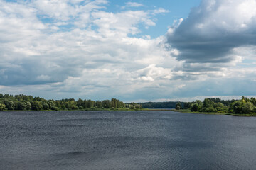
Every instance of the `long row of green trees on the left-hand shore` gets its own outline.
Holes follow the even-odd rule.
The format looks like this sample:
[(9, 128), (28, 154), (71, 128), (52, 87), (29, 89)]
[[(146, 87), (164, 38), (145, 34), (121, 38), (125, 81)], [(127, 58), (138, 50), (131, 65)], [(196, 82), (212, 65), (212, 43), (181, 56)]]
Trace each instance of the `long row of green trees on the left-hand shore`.
[(137, 103), (124, 103), (116, 98), (111, 100), (92, 101), (82, 100), (79, 98), (66, 98), (61, 100), (46, 100), (41, 97), (33, 97), (29, 95), (10, 95), (0, 94), (0, 111), (43, 111), (43, 110), (97, 110), (97, 109), (140, 109)]

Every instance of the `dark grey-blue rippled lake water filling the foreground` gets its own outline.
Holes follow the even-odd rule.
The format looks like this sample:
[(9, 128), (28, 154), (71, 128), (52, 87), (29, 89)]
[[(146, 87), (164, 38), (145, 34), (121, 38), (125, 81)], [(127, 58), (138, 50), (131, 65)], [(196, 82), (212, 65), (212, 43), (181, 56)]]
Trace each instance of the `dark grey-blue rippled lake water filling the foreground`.
[(0, 169), (256, 169), (256, 118), (0, 112)]

